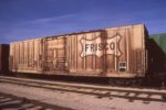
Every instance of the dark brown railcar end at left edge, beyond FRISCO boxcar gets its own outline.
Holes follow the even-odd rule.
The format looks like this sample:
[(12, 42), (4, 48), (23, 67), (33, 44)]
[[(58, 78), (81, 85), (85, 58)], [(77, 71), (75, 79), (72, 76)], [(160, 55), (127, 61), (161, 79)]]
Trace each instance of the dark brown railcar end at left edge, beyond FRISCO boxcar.
[(0, 74), (9, 72), (9, 44), (0, 44)]

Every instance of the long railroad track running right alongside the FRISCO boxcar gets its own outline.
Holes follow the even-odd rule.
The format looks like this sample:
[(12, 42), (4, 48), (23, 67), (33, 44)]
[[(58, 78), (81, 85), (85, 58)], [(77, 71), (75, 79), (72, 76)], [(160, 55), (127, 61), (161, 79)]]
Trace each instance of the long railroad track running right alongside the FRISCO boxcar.
[(125, 98), (128, 100), (143, 101), (162, 101), (166, 102), (166, 90), (144, 89), (144, 88), (124, 88), (108, 87), (85, 84), (69, 84), (62, 81), (46, 81), (29, 78), (14, 78), (0, 76), (0, 82), (13, 84), (19, 86), (28, 86), (43, 88), (49, 90), (58, 90), (62, 92), (75, 92), (83, 95), (92, 95), (97, 98)]

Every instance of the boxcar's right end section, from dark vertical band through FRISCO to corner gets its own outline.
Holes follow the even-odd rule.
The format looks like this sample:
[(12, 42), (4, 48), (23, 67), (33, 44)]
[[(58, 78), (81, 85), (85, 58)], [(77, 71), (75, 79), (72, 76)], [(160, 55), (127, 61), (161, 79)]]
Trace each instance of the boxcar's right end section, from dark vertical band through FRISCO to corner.
[[(112, 59), (106, 59), (107, 76), (143, 77), (145, 75), (144, 25), (108, 29), (107, 36), (115, 36)], [(113, 38), (113, 37), (112, 37)], [(108, 38), (107, 38), (108, 40)], [(112, 46), (114, 48), (114, 46)], [(106, 57), (110, 57), (108, 54)], [(114, 62), (111, 62), (114, 61)], [(108, 66), (110, 65), (110, 66)]]

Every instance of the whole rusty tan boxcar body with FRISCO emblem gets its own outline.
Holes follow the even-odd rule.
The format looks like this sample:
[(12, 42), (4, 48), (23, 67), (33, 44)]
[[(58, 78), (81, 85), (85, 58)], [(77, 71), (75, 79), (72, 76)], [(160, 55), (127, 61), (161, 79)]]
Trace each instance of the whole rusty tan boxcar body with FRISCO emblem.
[(10, 44), (10, 69), (21, 73), (134, 78), (147, 68), (144, 24)]

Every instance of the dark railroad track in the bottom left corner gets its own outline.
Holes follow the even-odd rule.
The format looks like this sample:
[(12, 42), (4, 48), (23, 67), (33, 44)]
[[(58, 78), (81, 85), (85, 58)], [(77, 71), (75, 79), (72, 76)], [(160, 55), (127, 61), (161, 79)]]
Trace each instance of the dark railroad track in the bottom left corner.
[(1, 110), (72, 110), (70, 108), (59, 107), (40, 102), (38, 100), (17, 97), (9, 94), (0, 92), (0, 108)]

